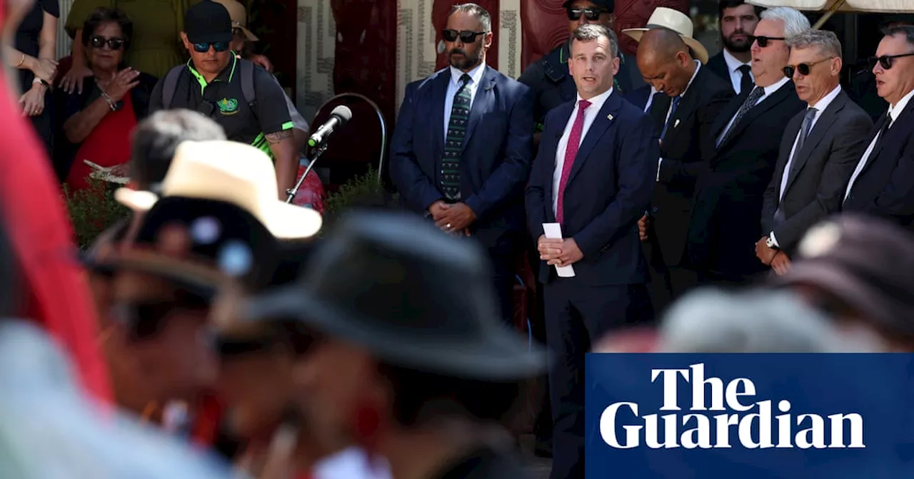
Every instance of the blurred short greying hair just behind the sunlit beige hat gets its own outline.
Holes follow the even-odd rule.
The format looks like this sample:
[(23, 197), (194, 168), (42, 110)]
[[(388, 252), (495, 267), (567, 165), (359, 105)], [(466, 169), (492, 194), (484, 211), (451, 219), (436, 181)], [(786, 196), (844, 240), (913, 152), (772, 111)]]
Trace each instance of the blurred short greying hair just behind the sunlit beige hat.
[(133, 132), (130, 177), (146, 190), (162, 182), (183, 141), (226, 140), (219, 124), (189, 109), (166, 109), (143, 120)]

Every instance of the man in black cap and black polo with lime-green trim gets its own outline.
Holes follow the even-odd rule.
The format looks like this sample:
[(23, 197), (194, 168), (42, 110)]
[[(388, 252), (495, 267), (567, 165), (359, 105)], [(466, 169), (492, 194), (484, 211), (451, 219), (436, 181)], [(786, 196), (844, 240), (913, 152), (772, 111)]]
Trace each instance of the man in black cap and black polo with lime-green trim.
[(228, 49), (231, 17), (204, 0), (187, 9), (181, 39), (190, 61), (173, 68), (153, 89), (149, 109), (193, 109), (216, 120), (228, 140), (250, 143), (274, 161), (280, 199), (295, 183), (299, 151), (285, 92), (276, 78)]

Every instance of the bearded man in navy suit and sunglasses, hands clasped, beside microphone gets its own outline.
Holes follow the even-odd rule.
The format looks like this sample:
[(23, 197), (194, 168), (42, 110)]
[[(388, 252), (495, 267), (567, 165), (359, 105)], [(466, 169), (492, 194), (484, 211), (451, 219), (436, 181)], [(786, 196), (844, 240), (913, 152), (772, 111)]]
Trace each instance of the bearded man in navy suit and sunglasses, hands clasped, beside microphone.
[(451, 67), (410, 83), (390, 145), (400, 202), (441, 230), (475, 238), (489, 252), (505, 321), (513, 316), (515, 253), (526, 231), (530, 89), (485, 66), (492, 19), (455, 5), (444, 30)]

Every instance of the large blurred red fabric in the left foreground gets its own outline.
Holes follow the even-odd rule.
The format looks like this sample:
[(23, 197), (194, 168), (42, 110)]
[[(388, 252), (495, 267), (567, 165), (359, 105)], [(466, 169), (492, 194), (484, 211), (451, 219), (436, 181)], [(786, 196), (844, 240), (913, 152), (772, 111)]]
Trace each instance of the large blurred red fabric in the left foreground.
[(101, 401), (112, 392), (97, 346), (94, 305), (75, 261), (73, 230), (44, 148), (0, 76), (0, 207), (24, 276), (28, 318), (69, 351), (82, 386)]

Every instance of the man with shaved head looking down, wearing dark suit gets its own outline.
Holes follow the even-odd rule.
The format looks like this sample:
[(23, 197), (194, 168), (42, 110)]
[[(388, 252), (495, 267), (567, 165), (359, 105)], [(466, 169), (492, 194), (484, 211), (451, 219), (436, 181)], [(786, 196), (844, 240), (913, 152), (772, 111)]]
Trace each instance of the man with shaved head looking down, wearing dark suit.
[(698, 172), (714, 154), (711, 124), (733, 92), (668, 28), (644, 32), (637, 59), (644, 81), (671, 99), (650, 109), (660, 133), (660, 164), (651, 211), (639, 224), (643, 241), (651, 245), (654, 273), (663, 278), (652, 285), (654, 307), (660, 309), (696, 284), (696, 274), (681, 266), (692, 193)]

